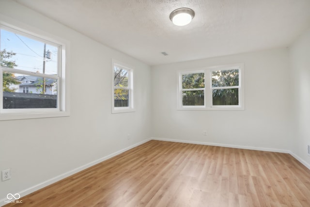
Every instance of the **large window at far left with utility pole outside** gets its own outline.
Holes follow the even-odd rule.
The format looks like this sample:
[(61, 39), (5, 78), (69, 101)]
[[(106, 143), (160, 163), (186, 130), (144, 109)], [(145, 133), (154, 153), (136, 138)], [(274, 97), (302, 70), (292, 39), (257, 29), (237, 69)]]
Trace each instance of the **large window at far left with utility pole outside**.
[(68, 115), (64, 44), (0, 25), (0, 52), (0, 120)]

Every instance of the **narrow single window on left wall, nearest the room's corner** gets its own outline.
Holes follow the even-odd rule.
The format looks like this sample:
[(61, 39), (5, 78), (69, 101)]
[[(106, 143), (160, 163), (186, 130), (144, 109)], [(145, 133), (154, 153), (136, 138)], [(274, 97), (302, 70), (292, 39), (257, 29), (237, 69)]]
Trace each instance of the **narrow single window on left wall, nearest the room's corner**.
[(133, 69), (112, 61), (112, 113), (134, 111)]

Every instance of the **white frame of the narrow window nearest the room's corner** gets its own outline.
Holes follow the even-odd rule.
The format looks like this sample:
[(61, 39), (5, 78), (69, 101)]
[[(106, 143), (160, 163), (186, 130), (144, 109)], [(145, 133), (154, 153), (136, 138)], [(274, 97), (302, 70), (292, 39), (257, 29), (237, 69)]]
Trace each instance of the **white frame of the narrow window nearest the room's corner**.
[[(114, 86), (114, 66), (117, 66), (117, 67), (121, 67), (125, 70), (128, 71), (128, 87), (116, 87)], [(112, 76), (111, 76), (111, 94), (112, 94), (112, 101), (111, 101), (111, 112), (112, 113), (124, 113), (124, 112), (134, 112), (136, 111), (135, 108), (134, 108), (134, 69), (127, 65), (127, 64), (124, 64), (122, 62), (119, 62), (119, 61), (116, 61), (116, 60), (113, 60), (112, 59)], [(127, 89), (129, 91), (129, 95), (128, 95), (128, 98), (129, 98), (129, 101), (128, 101), (128, 107), (115, 107), (114, 106), (114, 89)]]

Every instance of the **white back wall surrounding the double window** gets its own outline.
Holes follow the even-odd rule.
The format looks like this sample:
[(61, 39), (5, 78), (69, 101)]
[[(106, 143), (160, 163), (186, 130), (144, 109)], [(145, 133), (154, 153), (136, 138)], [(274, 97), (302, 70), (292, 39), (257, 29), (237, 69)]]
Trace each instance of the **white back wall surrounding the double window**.
[[(244, 111), (177, 111), (177, 71), (245, 64)], [(152, 67), (152, 135), (276, 151), (290, 148), (288, 49), (275, 49)], [(207, 136), (203, 136), (207, 131)]]

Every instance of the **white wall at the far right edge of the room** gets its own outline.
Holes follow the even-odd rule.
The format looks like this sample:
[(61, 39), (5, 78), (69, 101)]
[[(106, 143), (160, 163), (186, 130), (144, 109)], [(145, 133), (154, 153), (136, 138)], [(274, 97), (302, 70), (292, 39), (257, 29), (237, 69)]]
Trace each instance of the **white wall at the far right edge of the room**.
[(310, 30), (290, 47), (292, 101), (294, 103), (294, 137), (292, 151), (310, 166)]

